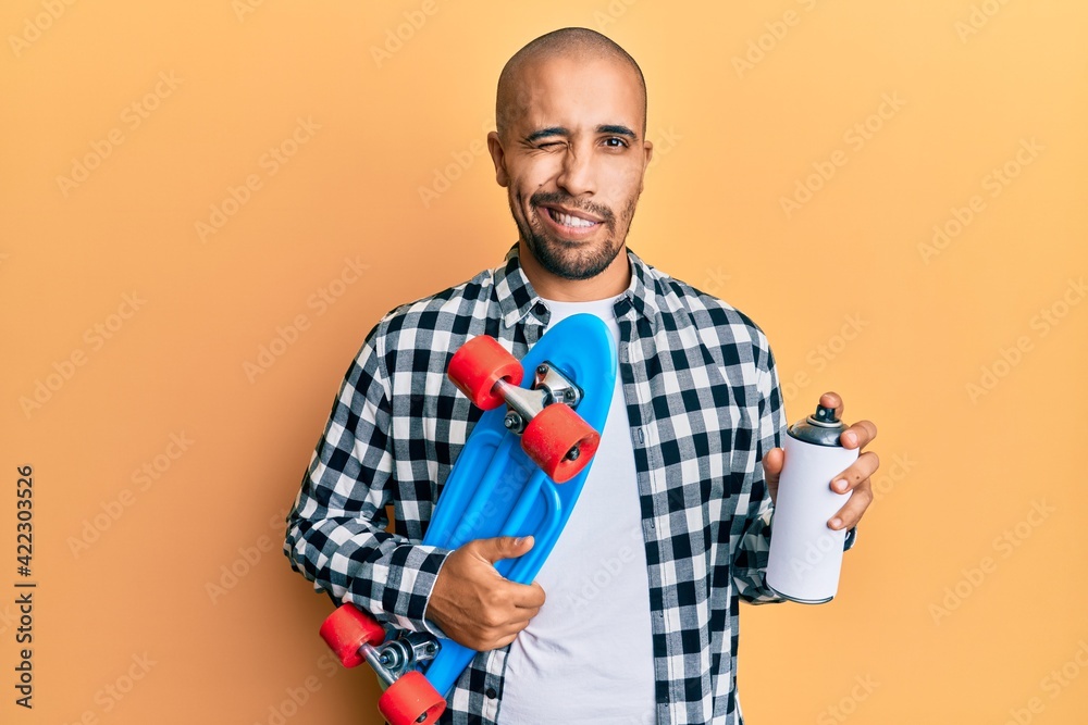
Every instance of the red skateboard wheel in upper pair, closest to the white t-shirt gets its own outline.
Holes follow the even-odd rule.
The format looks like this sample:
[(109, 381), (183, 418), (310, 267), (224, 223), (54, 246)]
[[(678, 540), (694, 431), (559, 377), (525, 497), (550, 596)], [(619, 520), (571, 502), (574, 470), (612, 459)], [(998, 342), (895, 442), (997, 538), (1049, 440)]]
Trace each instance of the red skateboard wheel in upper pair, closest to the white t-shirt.
[(599, 445), (601, 434), (564, 403), (547, 405), (521, 435), (521, 448), (557, 484), (577, 476)]

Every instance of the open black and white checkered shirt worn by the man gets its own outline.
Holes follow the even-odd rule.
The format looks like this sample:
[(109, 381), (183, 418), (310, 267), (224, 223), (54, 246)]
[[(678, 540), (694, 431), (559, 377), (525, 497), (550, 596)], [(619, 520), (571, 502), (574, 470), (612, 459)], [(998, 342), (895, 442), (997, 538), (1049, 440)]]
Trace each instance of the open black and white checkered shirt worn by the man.
[[(783, 434), (774, 358), (746, 316), (628, 254), (631, 284), (614, 310), (657, 722), (739, 724), (738, 602), (779, 601), (764, 582), (772, 508), (759, 465)], [(448, 551), (420, 541), (481, 415), (446, 379), (446, 364), (477, 335), (521, 358), (548, 315), (515, 247), (504, 266), (383, 317), (348, 370), (288, 516), (292, 566), (383, 623), (434, 632), (423, 612)], [(442, 722), (496, 722), (506, 657), (475, 657)]]

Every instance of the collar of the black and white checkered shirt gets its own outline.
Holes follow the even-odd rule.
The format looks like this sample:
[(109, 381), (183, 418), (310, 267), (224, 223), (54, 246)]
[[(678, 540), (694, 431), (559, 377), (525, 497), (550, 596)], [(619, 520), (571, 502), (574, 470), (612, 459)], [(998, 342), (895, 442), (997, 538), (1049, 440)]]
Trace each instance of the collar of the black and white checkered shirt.
[[(651, 328), (654, 328), (660, 309), (656, 271), (630, 249), (627, 250), (627, 257), (631, 263), (631, 284), (617, 299), (614, 311), (617, 317), (622, 317), (630, 310), (634, 310), (650, 322)], [(517, 243), (506, 253), (506, 264), (495, 271), (495, 292), (505, 327), (511, 327), (524, 320), (526, 315), (533, 312), (536, 304), (543, 305), (541, 297), (521, 268)], [(543, 314), (541, 312), (543, 309), (537, 310), (537, 315), (545, 317), (546, 312)]]

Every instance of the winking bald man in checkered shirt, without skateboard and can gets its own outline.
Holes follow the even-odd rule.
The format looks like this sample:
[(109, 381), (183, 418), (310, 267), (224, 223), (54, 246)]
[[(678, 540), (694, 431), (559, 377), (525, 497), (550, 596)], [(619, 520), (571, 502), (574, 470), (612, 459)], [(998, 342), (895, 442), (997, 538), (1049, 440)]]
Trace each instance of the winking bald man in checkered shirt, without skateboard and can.
[[(653, 147), (645, 83), (619, 46), (584, 28), (533, 40), (503, 70), (496, 126), (487, 145), (518, 243), (503, 266), (370, 333), (285, 551), (337, 601), (481, 652), (445, 722), (740, 723), (737, 604), (779, 600), (764, 582), (783, 429), (767, 341), (626, 250)], [(486, 334), (521, 357), (576, 312), (609, 325), (620, 370), (590, 478), (537, 580), (492, 566), (531, 538), (421, 546), (480, 415), (445, 379), (449, 355)], [(824, 402), (841, 409), (833, 393)], [(875, 435), (863, 422), (842, 441)], [(836, 479), (854, 495), (830, 527), (856, 524), (877, 465), (863, 453)]]

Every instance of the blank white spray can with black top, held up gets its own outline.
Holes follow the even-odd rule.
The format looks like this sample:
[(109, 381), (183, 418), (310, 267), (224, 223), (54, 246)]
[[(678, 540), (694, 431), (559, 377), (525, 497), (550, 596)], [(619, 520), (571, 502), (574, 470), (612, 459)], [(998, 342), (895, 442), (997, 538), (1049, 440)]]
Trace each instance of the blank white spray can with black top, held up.
[(845, 430), (834, 410), (818, 405), (815, 415), (789, 427), (786, 461), (771, 521), (767, 586), (805, 604), (831, 601), (839, 588), (845, 530), (827, 522), (850, 498), (831, 490), (831, 479), (857, 460), (857, 450), (839, 442)]

